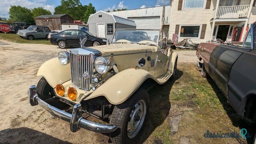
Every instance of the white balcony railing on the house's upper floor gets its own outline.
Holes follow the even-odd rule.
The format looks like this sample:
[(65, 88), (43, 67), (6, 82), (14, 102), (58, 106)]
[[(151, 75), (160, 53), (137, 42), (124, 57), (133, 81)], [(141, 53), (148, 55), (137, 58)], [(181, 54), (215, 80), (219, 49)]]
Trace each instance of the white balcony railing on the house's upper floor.
[(241, 18), (247, 17), (250, 5), (244, 6), (219, 6), (216, 18)]

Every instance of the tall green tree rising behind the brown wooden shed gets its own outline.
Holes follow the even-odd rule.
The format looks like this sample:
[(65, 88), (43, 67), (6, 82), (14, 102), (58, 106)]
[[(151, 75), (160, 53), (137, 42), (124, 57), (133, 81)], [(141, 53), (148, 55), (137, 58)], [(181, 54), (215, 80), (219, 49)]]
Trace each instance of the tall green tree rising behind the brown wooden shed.
[(74, 20), (83, 20), (86, 6), (83, 6), (80, 0), (61, 0), (61, 5), (54, 10), (54, 14), (68, 14)]

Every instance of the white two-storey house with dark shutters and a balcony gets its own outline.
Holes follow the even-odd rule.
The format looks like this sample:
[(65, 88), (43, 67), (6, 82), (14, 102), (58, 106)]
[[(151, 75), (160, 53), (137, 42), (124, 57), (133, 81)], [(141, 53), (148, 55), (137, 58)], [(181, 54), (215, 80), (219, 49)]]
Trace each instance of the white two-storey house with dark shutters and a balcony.
[(169, 39), (243, 41), (256, 21), (255, 0), (172, 0)]

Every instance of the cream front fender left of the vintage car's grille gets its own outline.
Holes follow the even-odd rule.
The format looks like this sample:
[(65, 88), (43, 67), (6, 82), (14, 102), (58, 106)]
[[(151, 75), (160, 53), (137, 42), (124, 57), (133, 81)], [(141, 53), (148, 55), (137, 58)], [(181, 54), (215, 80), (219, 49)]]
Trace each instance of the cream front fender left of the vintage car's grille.
[(40, 66), (37, 76), (43, 76), (55, 88), (56, 84), (71, 80), (70, 64), (62, 65), (58, 58), (52, 58)]

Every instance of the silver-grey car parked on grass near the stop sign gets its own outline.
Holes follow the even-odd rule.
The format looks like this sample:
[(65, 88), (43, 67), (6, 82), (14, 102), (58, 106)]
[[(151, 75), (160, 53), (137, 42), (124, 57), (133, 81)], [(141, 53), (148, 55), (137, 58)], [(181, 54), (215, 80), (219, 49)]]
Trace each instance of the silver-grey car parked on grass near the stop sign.
[(48, 38), (50, 32), (48, 26), (29, 26), (26, 30), (19, 30), (17, 34), (28, 40), (34, 40), (35, 38)]

